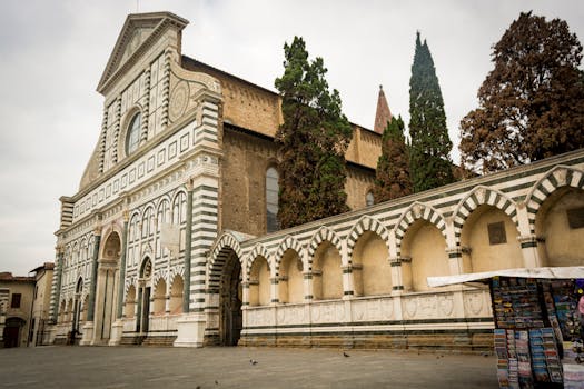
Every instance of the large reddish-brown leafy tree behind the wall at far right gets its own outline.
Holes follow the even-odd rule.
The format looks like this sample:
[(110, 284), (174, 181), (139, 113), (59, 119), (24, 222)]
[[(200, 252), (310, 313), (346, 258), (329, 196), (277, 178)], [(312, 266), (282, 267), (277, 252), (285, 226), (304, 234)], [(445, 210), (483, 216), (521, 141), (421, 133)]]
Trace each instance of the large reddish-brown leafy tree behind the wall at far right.
[(581, 60), (565, 21), (521, 13), (493, 48), (479, 107), (461, 122), (464, 166), (486, 173), (584, 147)]

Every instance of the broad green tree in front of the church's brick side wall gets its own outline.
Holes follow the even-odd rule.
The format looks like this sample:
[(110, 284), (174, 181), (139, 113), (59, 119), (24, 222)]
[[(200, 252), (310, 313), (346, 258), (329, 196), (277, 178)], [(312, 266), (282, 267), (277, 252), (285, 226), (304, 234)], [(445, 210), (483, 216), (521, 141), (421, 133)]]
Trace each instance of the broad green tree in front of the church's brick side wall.
[(284, 116), (276, 141), (281, 158), (278, 220), (288, 228), (348, 210), (345, 151), (353, 129), (338, 91), (328, 88), (323, 59), (308, 61), (298, 37), (284, 46), (284, 74), (275, 82)]

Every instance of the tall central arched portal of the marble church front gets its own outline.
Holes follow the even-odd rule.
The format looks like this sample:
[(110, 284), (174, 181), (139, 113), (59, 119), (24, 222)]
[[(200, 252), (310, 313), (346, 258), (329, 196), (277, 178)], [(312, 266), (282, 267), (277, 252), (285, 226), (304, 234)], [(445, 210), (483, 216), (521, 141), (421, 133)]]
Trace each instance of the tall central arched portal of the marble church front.
[(119, 282), (120, 236), (113, 231), (106, 239), (99, 260), (96, 295), (96, 342), (107, 343), (111, 325), (116, 320), (116, 301)]

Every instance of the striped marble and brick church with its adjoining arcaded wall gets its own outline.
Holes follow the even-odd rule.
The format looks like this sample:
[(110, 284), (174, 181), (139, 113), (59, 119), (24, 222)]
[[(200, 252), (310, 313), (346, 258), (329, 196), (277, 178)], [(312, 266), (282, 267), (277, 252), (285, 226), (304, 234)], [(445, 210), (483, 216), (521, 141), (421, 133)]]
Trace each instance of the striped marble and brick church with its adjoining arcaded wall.
[(99, 81), (52, 341), (478, 350), (488, 290), (426, 277), (584, 262), (584, 151), (372, 206), (380, 134), (358, 126), (352, 211), (278, 230), (280, 99), (184, 56), (187, 23), (129, 16)]

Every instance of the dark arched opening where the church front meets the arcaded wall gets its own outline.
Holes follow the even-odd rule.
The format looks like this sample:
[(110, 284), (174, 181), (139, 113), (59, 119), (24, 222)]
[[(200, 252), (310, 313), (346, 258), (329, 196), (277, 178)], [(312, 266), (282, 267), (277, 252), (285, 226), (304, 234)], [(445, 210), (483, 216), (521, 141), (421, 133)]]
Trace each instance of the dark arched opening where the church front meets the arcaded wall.
[(241, 263), (234, 251), (227, 256), (221, 273), (219, 295), (219, 341), (221, 346), (237, 346), (244, 325), (241, 313)]

